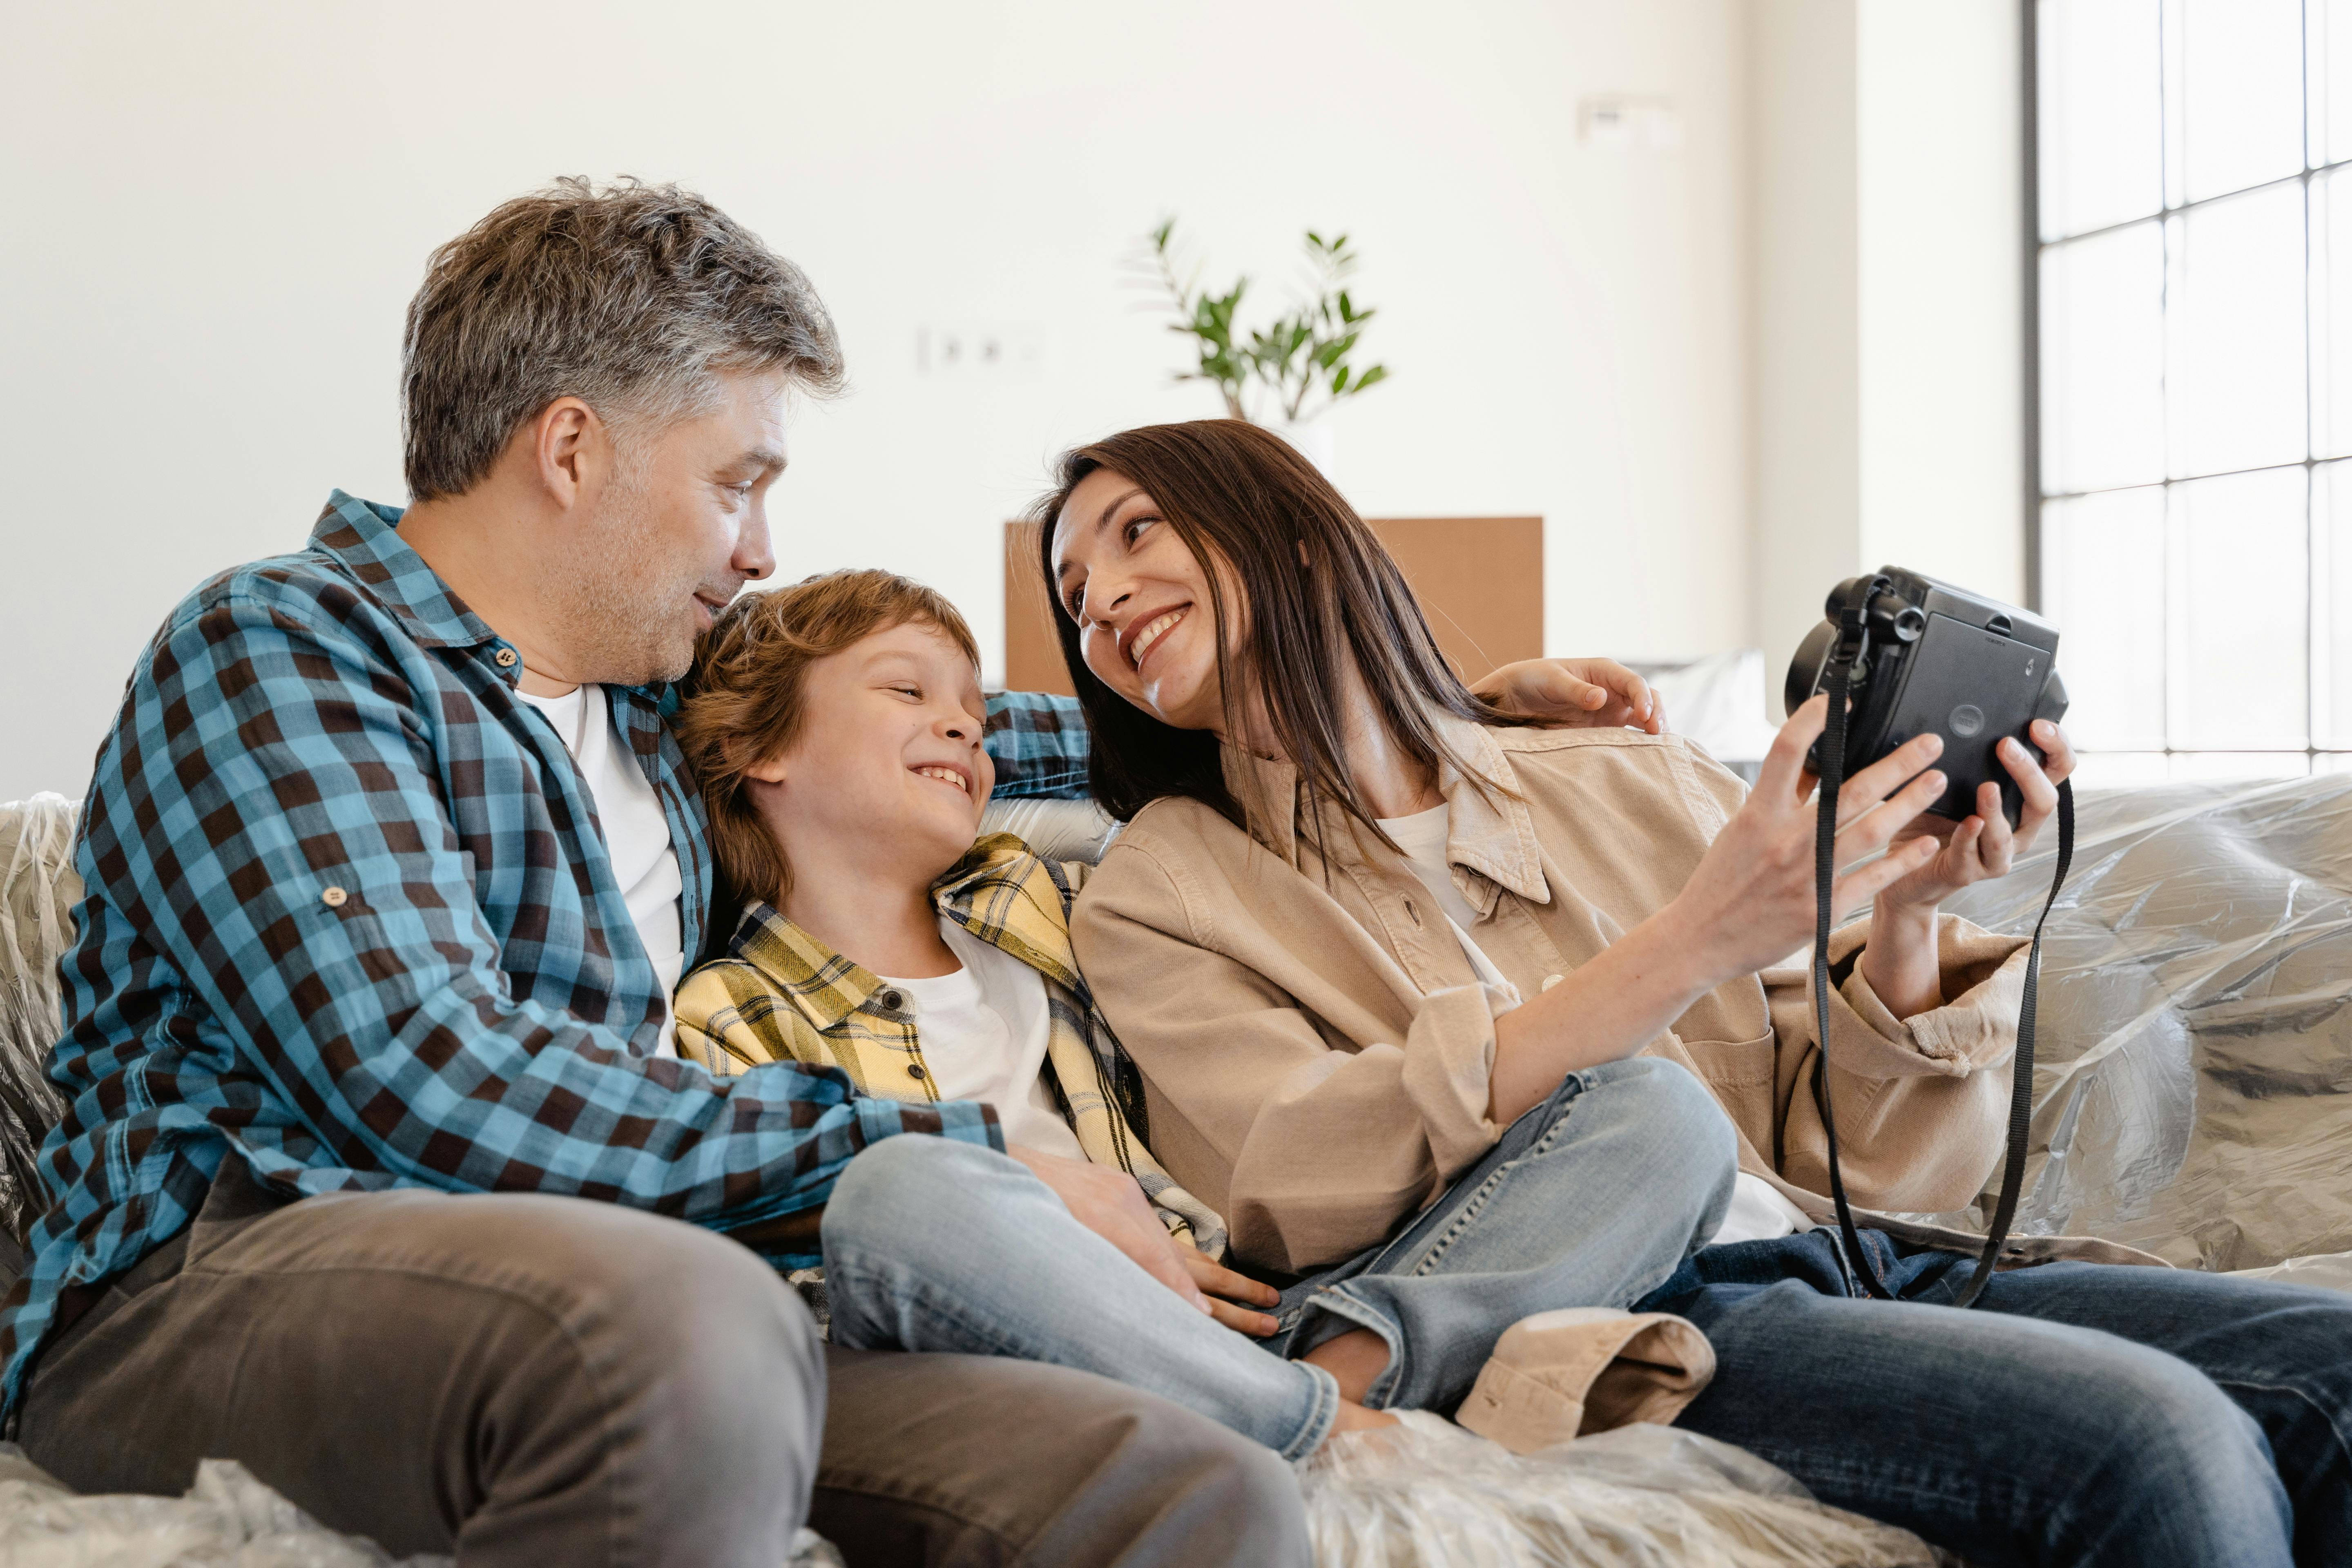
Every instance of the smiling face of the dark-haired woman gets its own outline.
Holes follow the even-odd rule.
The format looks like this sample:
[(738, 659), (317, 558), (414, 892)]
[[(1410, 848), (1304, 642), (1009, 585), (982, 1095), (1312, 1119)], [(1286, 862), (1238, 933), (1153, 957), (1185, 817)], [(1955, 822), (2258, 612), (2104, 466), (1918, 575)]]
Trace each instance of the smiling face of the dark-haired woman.
[[(1096, 468), (1054, 520), (1054, 597), (1098, 682), (1176, 729), (1223, 731), (1209, 574), (1134, 480)], [(1237, 604), (1225, 588), (1225, 604)]]

